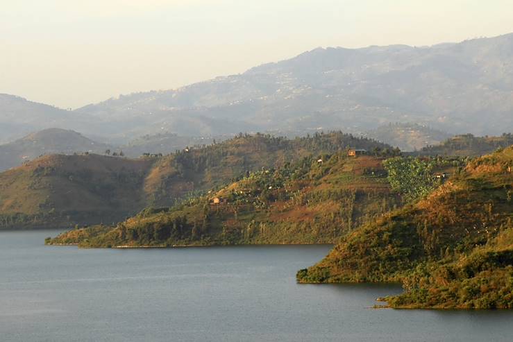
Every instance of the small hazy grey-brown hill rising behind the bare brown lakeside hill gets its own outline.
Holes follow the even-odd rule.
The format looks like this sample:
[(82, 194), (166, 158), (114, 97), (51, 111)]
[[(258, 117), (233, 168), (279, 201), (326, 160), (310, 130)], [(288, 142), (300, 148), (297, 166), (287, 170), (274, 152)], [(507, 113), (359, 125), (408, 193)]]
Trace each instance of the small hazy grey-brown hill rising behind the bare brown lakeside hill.
[(40, 155), (103, 153), (110, 146), (94, 142), (73, 130), (48, 128), (31, 133), (22, 139), (0, 145), (0, 171), (18, 166)]

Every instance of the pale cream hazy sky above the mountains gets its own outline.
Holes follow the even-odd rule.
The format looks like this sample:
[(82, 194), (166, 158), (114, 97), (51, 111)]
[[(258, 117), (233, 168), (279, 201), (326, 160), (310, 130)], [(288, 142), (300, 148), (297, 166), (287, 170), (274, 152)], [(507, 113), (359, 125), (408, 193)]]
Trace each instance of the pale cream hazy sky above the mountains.
[(513, 32), (512, 0), (0, 0), (0, 93), (77, 108), (317, 46)]

